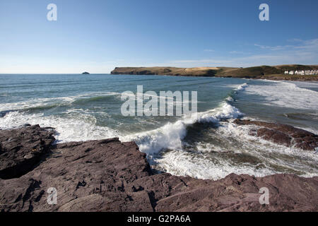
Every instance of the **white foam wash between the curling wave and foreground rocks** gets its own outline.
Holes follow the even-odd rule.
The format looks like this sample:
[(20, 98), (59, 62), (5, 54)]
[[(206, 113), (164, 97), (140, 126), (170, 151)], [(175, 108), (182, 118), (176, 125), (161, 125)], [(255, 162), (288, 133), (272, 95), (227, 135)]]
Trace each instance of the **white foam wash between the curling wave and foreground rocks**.
[[(302, 177), (318, 176), (315, 168), (318, 156), (313, 152), (287, 148), (250, 136), (249, 129), (251, 126), (237, 126), (231, 122), (220, 122), (216, 133), (211, 133), (211, 136), (222, 138), (229, 144), (228, 147), (218, 145), (218, 143), (198, 142), (196, 143), (196, 153), (188, 153), (184, 150), (163, 153), (163, 157), (155, 160), (156, 167), (177, 176), (199, 179), (221, 179), (231, 173), (265, 177), (288, 170), (298, 172)], [(209, 157), (211, 152), (217, 152), (220, 155)], [(227, 157), (221, 157), (226, 153), (250, 155), (261, 160), (261, 163), (232, 162)], [(275, 165), (280, 166), (280, 169), (273, 168)]]

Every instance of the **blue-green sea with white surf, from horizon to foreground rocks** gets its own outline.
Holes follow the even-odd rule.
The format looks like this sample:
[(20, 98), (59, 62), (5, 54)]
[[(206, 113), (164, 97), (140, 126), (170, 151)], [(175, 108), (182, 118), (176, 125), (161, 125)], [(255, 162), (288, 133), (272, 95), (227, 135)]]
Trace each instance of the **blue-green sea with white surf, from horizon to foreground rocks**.
[[(197, 91), (198, 118), (124, 117), (122, 92)], [(0, 129), (51, 126), (58, 143), (135, 141), (153, 169), (200, 179), (230, 173), (318, 176), (318, 155), (249, 136), (236, 118), (318, 133), (318, 83), (130, 75), (0, 75)]]

